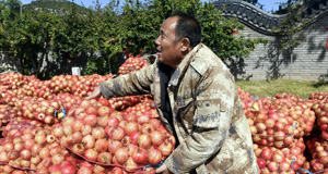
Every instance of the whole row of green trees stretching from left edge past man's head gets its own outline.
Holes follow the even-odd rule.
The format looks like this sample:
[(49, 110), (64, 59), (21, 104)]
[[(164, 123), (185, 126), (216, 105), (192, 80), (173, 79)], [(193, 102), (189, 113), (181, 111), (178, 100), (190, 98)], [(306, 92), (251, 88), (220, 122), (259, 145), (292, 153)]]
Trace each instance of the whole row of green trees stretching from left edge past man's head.
[[(155, 52), (154, 41), (163, 21), (177, 11), (198, 18), (203, 44), (221, 59), (247, 57), (257, 44), (265, 42), (234, 35), (244, 26), (236, 18), (223, 17), (212, 3), (200, 0), (126, 0), (124, 5), (119, 0), (110, 0), (105, 8), (96, 1), (83, 13), (81, 7), (65, 2), (61, 14), (28, 8), (19, 14), (7, 2), (0, 2), (0, 51), (20, 60), (22, 73), (34, 69), (44, 77), (54, 75), (50, 67), (42, 69), (43, 63), (49, 63), (49, 52), (58, 62), (67, 62), (63, 66), (79, 62), (69, 62), (67, 58), (80, 60), (87, 55), (84, 74), (112, 73), (117, 70), (117, 58), (124, 53)], [(42, 0), (37, 2), (43, 4)], [(57, 3), (52, 5), (60, 7)]]

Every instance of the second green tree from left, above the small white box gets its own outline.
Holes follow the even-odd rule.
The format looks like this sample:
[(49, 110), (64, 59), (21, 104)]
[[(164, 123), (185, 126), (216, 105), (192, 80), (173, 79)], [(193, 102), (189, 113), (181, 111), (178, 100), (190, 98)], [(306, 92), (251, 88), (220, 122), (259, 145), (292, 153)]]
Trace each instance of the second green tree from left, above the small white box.
[(58, 16), (58, 23), (54, 30), (52, 37), (52, 52), (54, 58), (57, 58), (58, 63), (61, 64), (58, 73), (69, 73), (71, 67), (75, 66), (79, 59), (85, 55), (87, 50), (86, 40), (93, 35), (86, 36), (87, 18), (83, 14), (77, 12), (77, 5), (71, 3), (65, 10), (65, 13)]

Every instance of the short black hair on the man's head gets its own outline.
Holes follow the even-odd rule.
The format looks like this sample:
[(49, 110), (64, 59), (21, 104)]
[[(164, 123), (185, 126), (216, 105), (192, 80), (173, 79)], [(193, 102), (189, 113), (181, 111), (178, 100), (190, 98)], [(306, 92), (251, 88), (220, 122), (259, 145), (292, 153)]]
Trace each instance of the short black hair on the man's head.
[(192, 48), (200, 44), (201, 28), (198, 21), (192, 15), (183, 12), (176, 12), (169, 17), (174, 16), (179, 18), (175, 28), (176, 40), (187, 37), (190, 40), (190, 47)]

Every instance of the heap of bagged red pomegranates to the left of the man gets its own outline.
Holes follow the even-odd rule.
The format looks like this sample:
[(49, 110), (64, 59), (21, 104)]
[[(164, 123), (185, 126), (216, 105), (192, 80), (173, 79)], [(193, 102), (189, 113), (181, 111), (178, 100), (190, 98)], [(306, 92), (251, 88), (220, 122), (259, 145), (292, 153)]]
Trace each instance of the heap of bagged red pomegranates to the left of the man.
[[(130, 58), (122, 66), (128, 73), (145, 65), (145, 60)], [(159, 120), (152, 95), (84, 99), (113, 77), (39, 80), (1, 74), (0, 172), (155, 173), (154, 166), (174, 150), (175, 138)]]

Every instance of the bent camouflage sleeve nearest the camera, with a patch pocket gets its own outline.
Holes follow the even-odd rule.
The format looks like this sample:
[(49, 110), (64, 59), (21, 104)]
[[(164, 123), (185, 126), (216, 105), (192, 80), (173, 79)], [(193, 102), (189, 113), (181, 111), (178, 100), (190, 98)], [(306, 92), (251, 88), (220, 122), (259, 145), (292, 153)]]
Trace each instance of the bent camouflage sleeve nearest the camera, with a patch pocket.
[(212, 70), (196, 91), (192, 133), (165, 161), (173, 173), (190, 172), (215, 157), (229, 136), (236, 92), (231, 74)]

